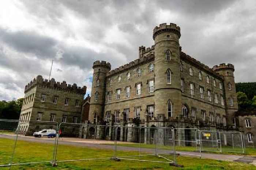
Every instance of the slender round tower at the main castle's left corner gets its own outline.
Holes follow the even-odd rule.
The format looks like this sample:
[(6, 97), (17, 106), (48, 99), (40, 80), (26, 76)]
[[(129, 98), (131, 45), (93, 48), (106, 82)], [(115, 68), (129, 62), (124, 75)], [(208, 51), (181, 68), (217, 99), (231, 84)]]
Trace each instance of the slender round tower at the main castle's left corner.
[(89, 121), (96, 123), (103, 119), (105, 94), (106, 94), (106, 73), (111, 69), (110, 63), (106, 61), (95, 61), (93, 63), (93, 82), (91, 87)]

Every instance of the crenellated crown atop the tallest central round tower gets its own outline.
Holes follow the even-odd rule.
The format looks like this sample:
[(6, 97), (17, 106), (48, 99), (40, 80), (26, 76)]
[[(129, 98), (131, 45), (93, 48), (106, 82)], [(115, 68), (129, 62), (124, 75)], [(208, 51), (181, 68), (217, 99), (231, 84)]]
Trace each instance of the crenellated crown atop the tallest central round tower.
[(153, 30), (153, 39), (155, 40), (155, 37), (160, 34), (160, 33), (166, 33), (166, 32), (171, 32), (171, 33), (176, 33), (179, 38), (181, 36), (180, 34), (180, 27), (177, 26), (174, 23), (170, 23), (170, 25), (167, 25), (166, 23), (159, 24), (159, 27), (156, 26)]

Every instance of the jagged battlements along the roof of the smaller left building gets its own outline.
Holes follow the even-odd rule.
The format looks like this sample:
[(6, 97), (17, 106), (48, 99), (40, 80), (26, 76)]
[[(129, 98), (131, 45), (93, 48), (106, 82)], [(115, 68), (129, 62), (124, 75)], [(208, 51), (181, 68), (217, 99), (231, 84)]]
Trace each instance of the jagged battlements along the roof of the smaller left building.
[(55, 82), (55, 79), (52, 78), (49, 82), (48, 79), (43, 79), (41, 75), (38, 75), (37, 78), (34, 78), (33, 81), (30, 81), (26, 86), (24, 92), (29, 91), (31, 88), (35, 86), (42, 86), (45, 88), (53, 88), (55, 90), (68, 91), (72, 93), (78, 94), (86, 94), (86, 86), (83, 88), (78, 87), (75, 83), (73, 85), (67, 84), (65, 81), (62, 83)]

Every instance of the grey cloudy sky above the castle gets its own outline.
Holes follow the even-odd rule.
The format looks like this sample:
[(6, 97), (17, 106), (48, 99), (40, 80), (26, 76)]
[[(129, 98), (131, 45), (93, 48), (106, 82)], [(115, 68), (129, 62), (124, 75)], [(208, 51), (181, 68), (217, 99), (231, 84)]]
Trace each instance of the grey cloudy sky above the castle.
[(181, 27), (182, 50), (212, 67), (235, 65), (236, 82), (256, 81), (255, 0), (0, 1), (0, 100), (23, 97), (35, 76), (87, 86), (92, 63), (112, 68), (153, 45), (159, 23)]

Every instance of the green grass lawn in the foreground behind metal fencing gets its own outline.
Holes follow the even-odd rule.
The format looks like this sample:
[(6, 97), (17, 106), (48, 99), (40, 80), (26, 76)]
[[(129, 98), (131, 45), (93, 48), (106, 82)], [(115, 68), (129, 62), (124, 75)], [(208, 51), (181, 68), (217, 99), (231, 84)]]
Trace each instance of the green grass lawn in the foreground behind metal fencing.
[[(14, 140), (0, 138), (0, 164), (8, 163), (10, 160)], [(52, 160), (53, 144), (33, 143), (19, 140), (15, 150), (13, 162), (35, 162)], [(118, 151), (118, 155), (134, 155), (138, 152)], [(112, 157), (113, 150), (100, 148), (76, 147), (59, 145), (57, 160), (104, 158)], [(173, 159), (171, 155), (166, 155)], [(147, 160), (162, 160), (153, 156), (145, 157)], [(110, 159), (89, 160), (79, 162), (62, 162), (57, 167), (50, 163), (31, 164), (23, 166), (12, 166), (11, 170), (256, 170), (256, 166), (245, 163), (217, 161), (211, 159), (199, 159), (178, 156), (177, 163), (184, 165), (184, 168), (169, 166), (165, 163), (140, 162), (135, 160), (121, 160), (116, 162)], [(0, 168), (8, 170), (9, 168)]]

